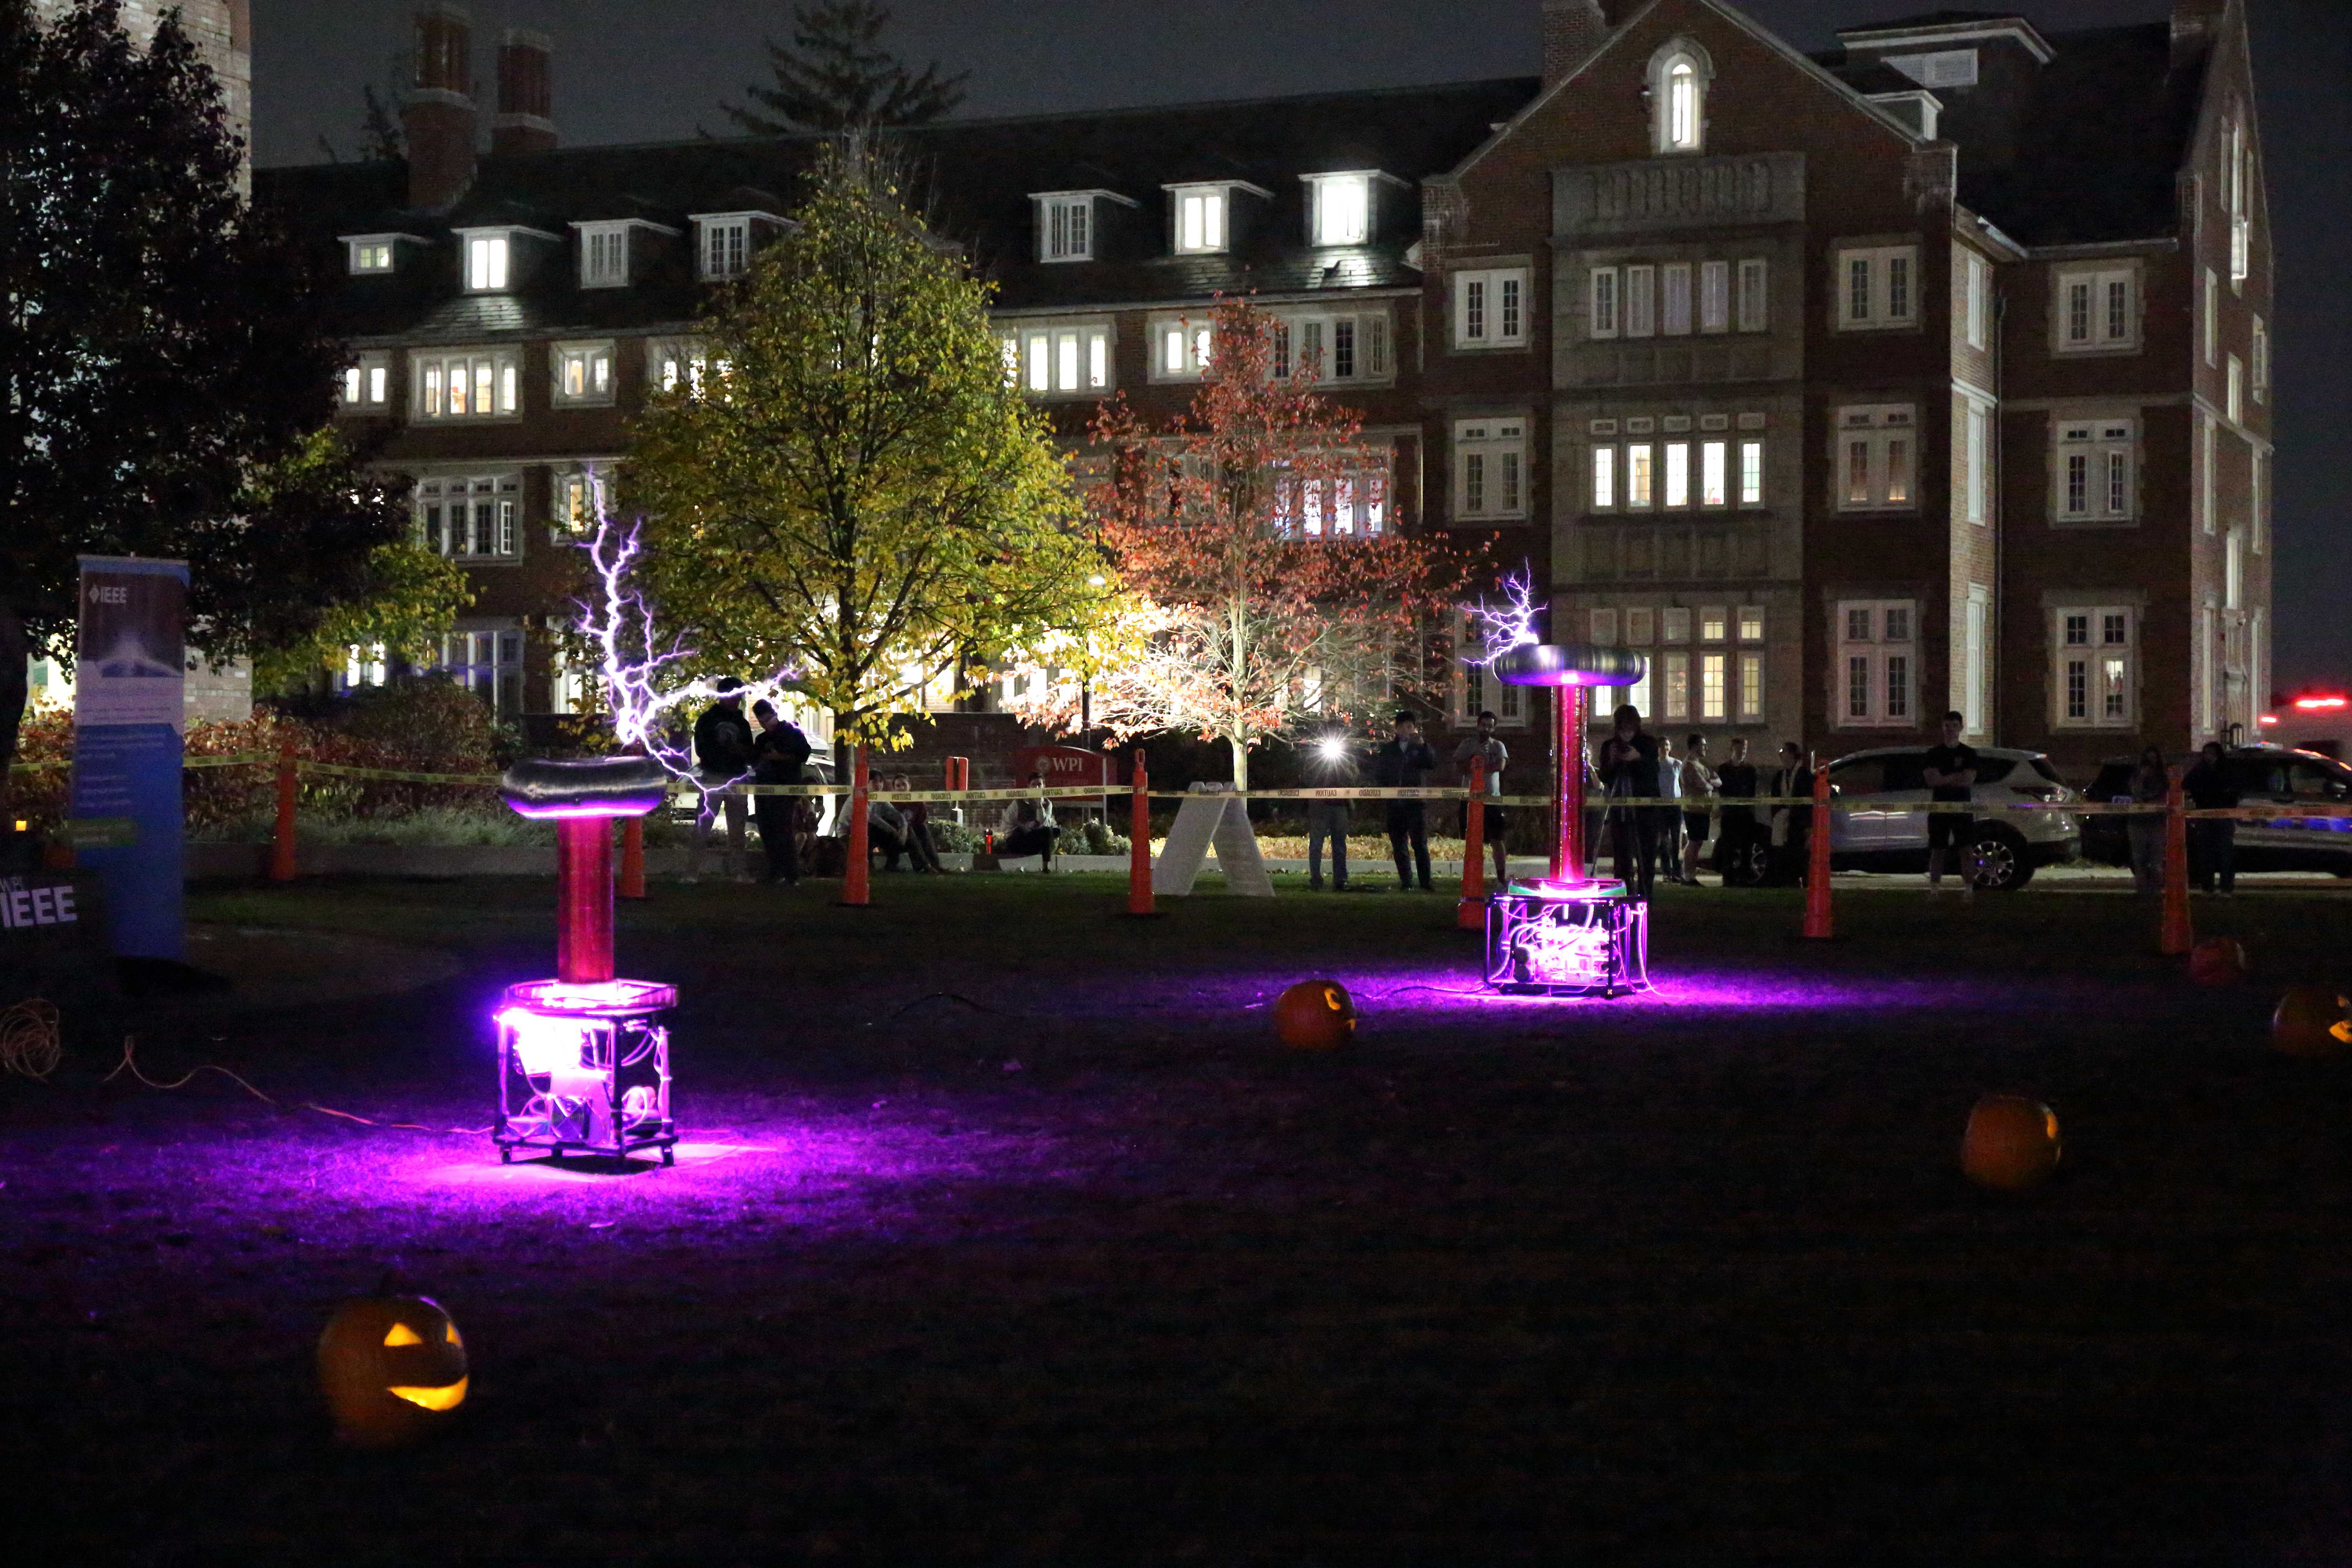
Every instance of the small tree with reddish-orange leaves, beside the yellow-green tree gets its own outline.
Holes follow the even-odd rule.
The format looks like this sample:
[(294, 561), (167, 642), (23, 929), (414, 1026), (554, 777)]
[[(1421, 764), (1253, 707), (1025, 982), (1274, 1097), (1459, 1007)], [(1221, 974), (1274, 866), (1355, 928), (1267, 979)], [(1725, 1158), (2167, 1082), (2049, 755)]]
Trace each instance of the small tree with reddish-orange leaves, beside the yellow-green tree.
[(1463, 567), (1397, 529), (1388, 451), (1315, 390), (1277, 317), (1218, 301), (1188, 336), (1204, 367), (1185, 414), (1152, 425), (1112, 397), (1094, 418), (1110, 475), (1089, 508), (1127, 611), (1087, 646), (1014, 651), (1016, 710), (1073, 726), (1084, 689), (1117, 738), (1223, 741), (1247, 790), (1258, 743), (1435, 686), (1432, 623)]

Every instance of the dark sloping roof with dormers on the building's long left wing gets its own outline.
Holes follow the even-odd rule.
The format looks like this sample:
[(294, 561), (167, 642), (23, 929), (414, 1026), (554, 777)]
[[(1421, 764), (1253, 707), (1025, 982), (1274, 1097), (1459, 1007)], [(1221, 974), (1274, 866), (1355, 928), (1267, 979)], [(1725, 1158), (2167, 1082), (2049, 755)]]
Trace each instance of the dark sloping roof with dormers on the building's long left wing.
[[(1331, 92), (1289, 99), (1178, 103), (1169, 108), (964, 120), (894, 134), (913, 176), (910, 193), (931, 228), (960, 242), (981, 275), (997, 282), (1007, 310), (1084, 310), (1136, 301), (1200, 301), (1209, 294), (1303, 294), (1338, 287), (1418, 284), (1406, 249), (1421, 237), (1418, 183), (1454, 167), (1491, 127), (1536, 96), (1534, 78)], [(308, 165), (256, 169), (256, 200), (310, 235), (527, 223), (567, 233), (576, 221), (647, 219), (684, 228), (689, 214), (741, 212), (746, 193), (776, 193), (788, 214), (816, 158), (809, 136), (699, 139), (647, 146), (557, 148), (487, 155), (473, 188), (447, 214), (402, 212), (400, 165)], [(1381, 169), (1388, 219), (1371, 244), (1305, 244), (1308, 188), (1301, 174)], [(1171, 256), (1164, 186), (1244, 181), (1268, 200), (1237, 207), (1235, 249)], [(1033, 190), (1115, 190), (1134, 209), (1101, 212), (1101, 259), (1035, 261)], [(348, 331), (390, 336), (430, 331), (593, 331), (691, 320), (703, 292), (691, 259), (673, 256), (649, 282), (579, 289), (567, 268), (527, 280), (515, 310), (496, 320), (452, 308), (454, 259), (400, 277), (353, 277)], [(423, 275), (430, 273), (430, 275)], [(447, 275), (442, 275), (447, 273)]]

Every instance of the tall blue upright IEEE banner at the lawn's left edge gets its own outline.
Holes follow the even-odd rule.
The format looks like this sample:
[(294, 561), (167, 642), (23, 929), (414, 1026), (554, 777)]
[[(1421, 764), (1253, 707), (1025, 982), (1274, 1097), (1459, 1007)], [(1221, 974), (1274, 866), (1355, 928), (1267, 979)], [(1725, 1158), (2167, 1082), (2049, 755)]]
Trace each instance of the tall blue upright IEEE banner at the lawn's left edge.
[(73, 823), (118, 957), (183, 959), (181, 710), (188, 562), (82, 557)]

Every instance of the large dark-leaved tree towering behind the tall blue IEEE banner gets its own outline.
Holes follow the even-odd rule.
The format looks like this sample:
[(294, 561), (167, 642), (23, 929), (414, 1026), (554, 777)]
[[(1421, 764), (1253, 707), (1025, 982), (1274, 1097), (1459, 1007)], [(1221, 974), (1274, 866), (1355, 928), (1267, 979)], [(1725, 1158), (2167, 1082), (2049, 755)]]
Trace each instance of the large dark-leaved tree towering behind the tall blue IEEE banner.
[(71, 656), (75, 555), (181, 557), (193, 639), (306, 637), (369, 590), (405, 508), (336, 442), (332, 277), (242, 195), (245, 148), (176, 14), (0, 0), (0, 766), (26, 656)]

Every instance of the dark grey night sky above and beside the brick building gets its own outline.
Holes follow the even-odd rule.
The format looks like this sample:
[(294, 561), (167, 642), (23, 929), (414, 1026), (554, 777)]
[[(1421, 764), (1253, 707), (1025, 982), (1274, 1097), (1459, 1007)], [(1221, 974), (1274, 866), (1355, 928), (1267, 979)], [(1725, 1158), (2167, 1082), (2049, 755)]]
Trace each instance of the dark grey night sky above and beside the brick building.
[[(409, 0), (254, 0), (254, 153), (350, 158), (360, 87), (393, 82)], [(475, 80), (503, 26), (555, 35), (567, 143), (731, 132), (720, 99), (764, 80), (788, 0), (473, 0)], [(1538, 0), (901, 0), (891, 45), (971, 71), (971, 115), (1181, 103), (1343, 87), (1534, 75)], [(1832, 31), (1933, 9), (1926, 0), (1750, 0), (1804, 49)], [(1994, 9), (1980, 5), (1971, 9)], [(2164, 0), (2034, 0), (2044, 33), (2157, 21)], [(2352, 5), (2251, 0), (2270, 216), (2277, 230), (2277, 684), (2352, 682)]]

